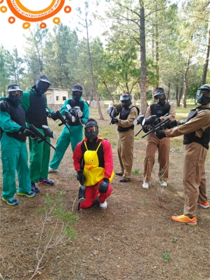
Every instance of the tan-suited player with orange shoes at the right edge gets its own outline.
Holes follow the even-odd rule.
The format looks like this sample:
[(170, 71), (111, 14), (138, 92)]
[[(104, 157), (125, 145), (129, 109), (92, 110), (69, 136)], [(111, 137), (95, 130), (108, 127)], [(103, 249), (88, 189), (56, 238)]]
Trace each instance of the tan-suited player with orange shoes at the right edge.
[(210, 85), (202, 85), (197, 90), (197, 103), (201, 106), (190, 111), (186, 123), (157, 133), (159, 139), (184, 134), (183, 188), (185, 202), (183, 215), (172, 216), (172, 220), (187, 225), (197, 224), (197, 205), (209, 208), (204, 165), (210, 136)]

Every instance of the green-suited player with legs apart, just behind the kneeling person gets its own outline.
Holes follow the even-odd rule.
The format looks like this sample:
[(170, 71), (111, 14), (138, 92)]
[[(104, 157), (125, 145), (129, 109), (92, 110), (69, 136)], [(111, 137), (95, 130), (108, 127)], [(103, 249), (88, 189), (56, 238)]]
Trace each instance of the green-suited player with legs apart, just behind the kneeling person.
[[(72, 91), (72, 97), (66, 100), (66, 102), (61, 107), (61, 115), (65, 115), (65, 111), (68, 111), (68, 105), (71, 108), (77, 106), (80, 107), (82, 111), (82, 124), (86, 123), (89, 118), (89, 106), (87, 102), (82, 101), (82, 86), (74, 85)], [(72, 114), (73, 111), (70, 109)], [(50, 162), (49, 172), (57, 172), (61, 160), (63, 159), (63, 155), (66, 152), (69, 144), (71, 144), (72, 151), (75, 151), (75, 147), (77, 144), (83, 139), (83, 127), (80, 121), (76, 118), (75, 122), (68, 122), (67, 125), (70, 128), (71, 133), (66, 127), (63, 127), (63, 131), (57, 141), (56, 151), (54, 151), (52, 160)]]

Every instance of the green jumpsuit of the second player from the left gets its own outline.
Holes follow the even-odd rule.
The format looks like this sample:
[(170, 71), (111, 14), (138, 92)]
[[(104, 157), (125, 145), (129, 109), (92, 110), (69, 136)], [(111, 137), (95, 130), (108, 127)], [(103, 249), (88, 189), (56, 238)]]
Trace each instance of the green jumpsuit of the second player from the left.
[[(32, 94), (37, 94), (33, 88), (30, 88), (30, 92)], [(24, 111), (29, 110), (31, 106), (30, 102), (30, 94), (29, 92), (23, 92), (22, 102), (20, 103), (20, 106), (24, 108)], [(46, 109), (53, 113), (52, 110), (47, 106), (47, 98), (46, 98)], [(37, 116), (39, 118), (39, 116)], [(47, 113), (46, 113), (47, 118)], [(27, 119), (27, 124), (31, 125), (29, 123), (29, 120)], [(37, 128), (37, 127), (36, 127)], [(44, 134), (43, 130), (40, 128), (37, 128), (42, 134)], [(50, 137), (47, 137), (47, 140), (50, 141)], [(30, 176), (31, 176), (31, 182), (38, 183), (39, 179), (45, 179), (48, 177), (48, 166), (50, 162), (50, 145), (48, 145), (45, 141), (38, 144), (38, 141), (35, 141), (31, 138), (29, 138), (29, 150), (30, 150)]]

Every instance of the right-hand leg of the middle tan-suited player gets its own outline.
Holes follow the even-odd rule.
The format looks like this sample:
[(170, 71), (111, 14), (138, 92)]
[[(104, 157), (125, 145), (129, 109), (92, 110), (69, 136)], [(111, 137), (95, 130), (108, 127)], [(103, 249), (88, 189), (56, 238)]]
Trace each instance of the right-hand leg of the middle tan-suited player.
[(167, 182), (169, 169), (170, 138), (165, 137), (161, 140), (158, 140), (158, 142), (158, 176), (160, 181)]

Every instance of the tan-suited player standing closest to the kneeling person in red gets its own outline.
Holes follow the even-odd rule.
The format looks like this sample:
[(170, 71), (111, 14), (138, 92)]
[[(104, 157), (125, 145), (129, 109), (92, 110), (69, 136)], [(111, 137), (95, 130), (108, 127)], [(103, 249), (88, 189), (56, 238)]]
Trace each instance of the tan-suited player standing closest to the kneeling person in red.
[(133, 146), (134, 146), (134, 132), (133, 121), (137, 118), (140, 110), (133, 106), (131, 97), (128, 92), (124, 92), (120, 97), (121, 103), (113, 104), (115, 109), (120, 112), (119, 119), (113, 118), (112, 124), (117, 124), (118, 143), (117, 152), (121, 172), (116, 172), (118, 176), (122, 176), (119, 180), (121, 183), (130, 181), (131, 170), (133, 166)]

